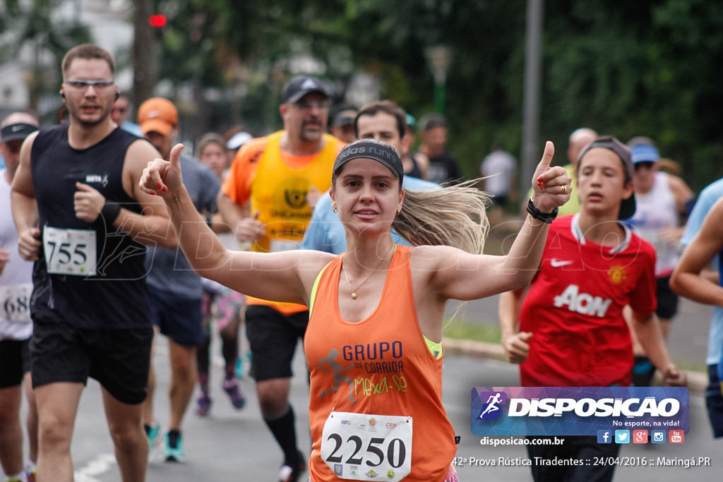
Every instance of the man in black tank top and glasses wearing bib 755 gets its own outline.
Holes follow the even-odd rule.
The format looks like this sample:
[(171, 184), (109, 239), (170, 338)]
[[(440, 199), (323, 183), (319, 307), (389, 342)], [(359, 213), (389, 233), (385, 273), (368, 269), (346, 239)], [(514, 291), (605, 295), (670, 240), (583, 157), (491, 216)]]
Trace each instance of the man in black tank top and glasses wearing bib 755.
[(92, 376), (103, 387), (121, 478), (144, 481), (141, 413), (153, 328), (143, 245), (177, 244), (166, 207), (138, 187), (147, 162), (160, 155), (111, 120), (119, 92), (110, 53), (74, 47), (62, 71), (70, 121), (27, 137), (12, 186), (18, 249), (35, 261), (30, 355), (38, 480), (72, 481), (74, 418)]

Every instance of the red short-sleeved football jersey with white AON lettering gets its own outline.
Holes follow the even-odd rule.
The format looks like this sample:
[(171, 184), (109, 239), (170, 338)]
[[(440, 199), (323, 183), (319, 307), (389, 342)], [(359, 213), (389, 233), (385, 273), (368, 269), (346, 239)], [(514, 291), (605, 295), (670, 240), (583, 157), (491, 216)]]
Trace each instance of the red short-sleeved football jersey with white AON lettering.
[(627, 386), (633, 348), (623, 306), (645, 314), (656, 308), (653, 246), (625, 225), (622, 244), (591, 243), (578, 217), (550, 225), (523, 301), (520, 331), (534, 334), (520, 366), (526, 387)]

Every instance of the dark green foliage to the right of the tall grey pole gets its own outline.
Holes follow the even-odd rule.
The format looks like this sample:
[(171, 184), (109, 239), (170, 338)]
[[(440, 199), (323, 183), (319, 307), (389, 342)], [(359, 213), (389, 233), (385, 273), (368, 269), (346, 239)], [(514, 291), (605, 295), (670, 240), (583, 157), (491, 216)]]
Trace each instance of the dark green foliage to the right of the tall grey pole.
[(696, 190), (723, 176), (716, 2), (547, 2), (545, 27), (542, 134), (646, 135)]

